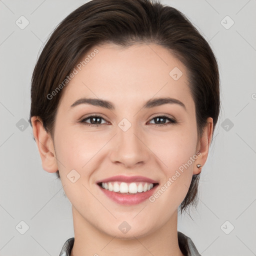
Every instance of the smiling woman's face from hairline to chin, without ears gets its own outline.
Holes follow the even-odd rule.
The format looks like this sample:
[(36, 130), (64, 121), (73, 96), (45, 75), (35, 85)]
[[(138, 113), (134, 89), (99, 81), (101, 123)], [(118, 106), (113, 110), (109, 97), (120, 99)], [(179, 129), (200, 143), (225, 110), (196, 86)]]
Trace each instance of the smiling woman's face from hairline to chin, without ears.
[[(201, 163), (187, 70), (156, 44), (103, 44), (90, 52), (95, 48), (98, 53), (80, 70), (76, 66), (63, 88), (54, 129), (56, 164), (76, 219), (112, 236), (139, 237), (171, 220)], [(166, 97), (172, 100), (143, 107)], [(112, 108), (74, 104), (82, 98), (106, 100)], [(133, 203), (129, 195), (109, 191), (117, 198), (112, 199), (97, 182), (116, 175), (139, 175), (158, 185), (146, 199), (138, 192)], [(122, 225), (131, 227), (127, 234)]]

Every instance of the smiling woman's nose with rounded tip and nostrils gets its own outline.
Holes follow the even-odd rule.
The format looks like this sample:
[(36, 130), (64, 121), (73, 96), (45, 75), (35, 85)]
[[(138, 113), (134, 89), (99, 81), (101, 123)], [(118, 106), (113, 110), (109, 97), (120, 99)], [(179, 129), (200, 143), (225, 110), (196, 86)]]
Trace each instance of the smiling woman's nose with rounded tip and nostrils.
[(135, 125), (131, 125), (126, 131), (117, 127), (117, 134), (111, 144), (111, 161), (125, 168), (144, 164), (150, 157), (150, 150), (145, 140), (145, 136), (135, 129)]

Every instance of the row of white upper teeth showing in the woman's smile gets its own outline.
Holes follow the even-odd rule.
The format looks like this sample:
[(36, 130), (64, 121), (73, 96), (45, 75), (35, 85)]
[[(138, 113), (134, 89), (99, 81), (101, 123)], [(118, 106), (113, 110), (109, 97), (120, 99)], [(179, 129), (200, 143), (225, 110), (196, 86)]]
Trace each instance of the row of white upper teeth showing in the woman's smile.
[(120, 193), (137, 193), (146, 192), (153, 187), (152, 183), (147, 182), (102, 182), (101, 187), (114, 192)]

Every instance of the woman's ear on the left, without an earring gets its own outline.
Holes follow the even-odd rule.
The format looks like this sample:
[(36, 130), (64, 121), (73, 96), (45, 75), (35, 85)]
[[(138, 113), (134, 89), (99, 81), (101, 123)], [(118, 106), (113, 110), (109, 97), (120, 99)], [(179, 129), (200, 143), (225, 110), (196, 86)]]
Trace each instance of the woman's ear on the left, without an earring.
[(33, 135), (39, 150), (42, 161), (42, 168), (47, 172), (58, 170), (55, 150), (50, 134), (44, 129), (41, 119), (38, 116), (31, 117)]

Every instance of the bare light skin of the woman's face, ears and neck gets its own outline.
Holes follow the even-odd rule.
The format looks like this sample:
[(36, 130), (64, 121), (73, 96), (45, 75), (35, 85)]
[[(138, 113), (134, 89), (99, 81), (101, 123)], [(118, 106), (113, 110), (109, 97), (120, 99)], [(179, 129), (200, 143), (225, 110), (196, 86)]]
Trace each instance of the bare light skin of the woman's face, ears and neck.
[[(40, 119), (31, 118), (42, 167), (48, 172), (59, 170), (72, 204), (75, 241), (71, 255), (181, 256), (177, 209), (192, 174), (200, 172), (196, 164), (203, 166), (206, 161), (212, 118), (208, 117), (203, 136), (198, 139), (187, 71), (169, 50), (153, 43), (94, 48), (99, 50), (96, 56), (63, 88), (54, 141)], [(174, 67), (183, 73), (178, 80), (169, 75)], [(185, 108), (178, 104), (142, 108), (147, 100), (166, 96), (180, 100)], [(115, 109), (89, 104), (70, 107), (82, 97), (109, 100)], [(79, 122), (91, 114), (103, 117), (101, 125)], [(162, 114), (177, 122), (165, 119), (168, 124), (159, 126), (153, 117)], [(127, 131), (118, 126), (123, 118), (131, 124)], [(120, 205), (96, 184), (100, 179), (123, 174), (155, 179), (161, 187), (196, 151), (201, 152), (197, 159), (154, 202)], [(72, 169), (80, 174), (74, 183), (67, 178)], [(131, 226), (125, 234), (118, 228), (123, 221)]]

